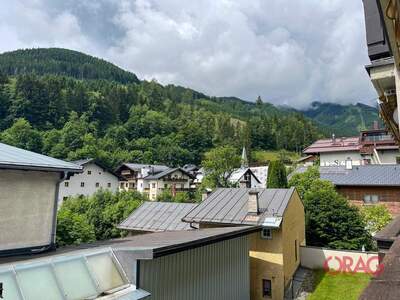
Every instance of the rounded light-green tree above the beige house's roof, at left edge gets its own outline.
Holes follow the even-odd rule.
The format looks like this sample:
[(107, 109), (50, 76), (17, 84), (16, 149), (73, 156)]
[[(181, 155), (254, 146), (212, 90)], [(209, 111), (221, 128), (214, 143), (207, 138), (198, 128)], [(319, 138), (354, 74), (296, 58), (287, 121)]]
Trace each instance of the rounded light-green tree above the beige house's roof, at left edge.
[(42, 149), (40, 133), (22, 118), (17, 119), (10, 128), (0, 133), (0, 141), (34, 152), (40, 152)]

